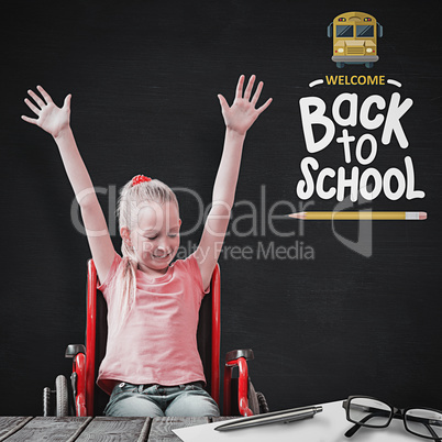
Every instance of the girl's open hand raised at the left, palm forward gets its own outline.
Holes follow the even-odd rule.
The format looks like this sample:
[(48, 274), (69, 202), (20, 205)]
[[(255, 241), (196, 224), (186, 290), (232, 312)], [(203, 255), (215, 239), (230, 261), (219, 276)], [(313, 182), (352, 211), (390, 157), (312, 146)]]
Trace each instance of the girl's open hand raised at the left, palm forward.
[(58, 108), (52, 100), (51, 96), (41, 86), (37, 86), (37, 90), (44, 100), (42, 100), (42, 98), (34, 91), (29, 90), (27, 93), (34, 99), (37, 106), (27, 98), (24, 99), (24, 102), (38, 118), (33, 119), (22, 115), (22, 119), (27, 123), (36, 124), (55, 139), (63, 132), (63, 130), (69, 126), (71, 95), (69, 93), (66, 96), (63, 108)]

